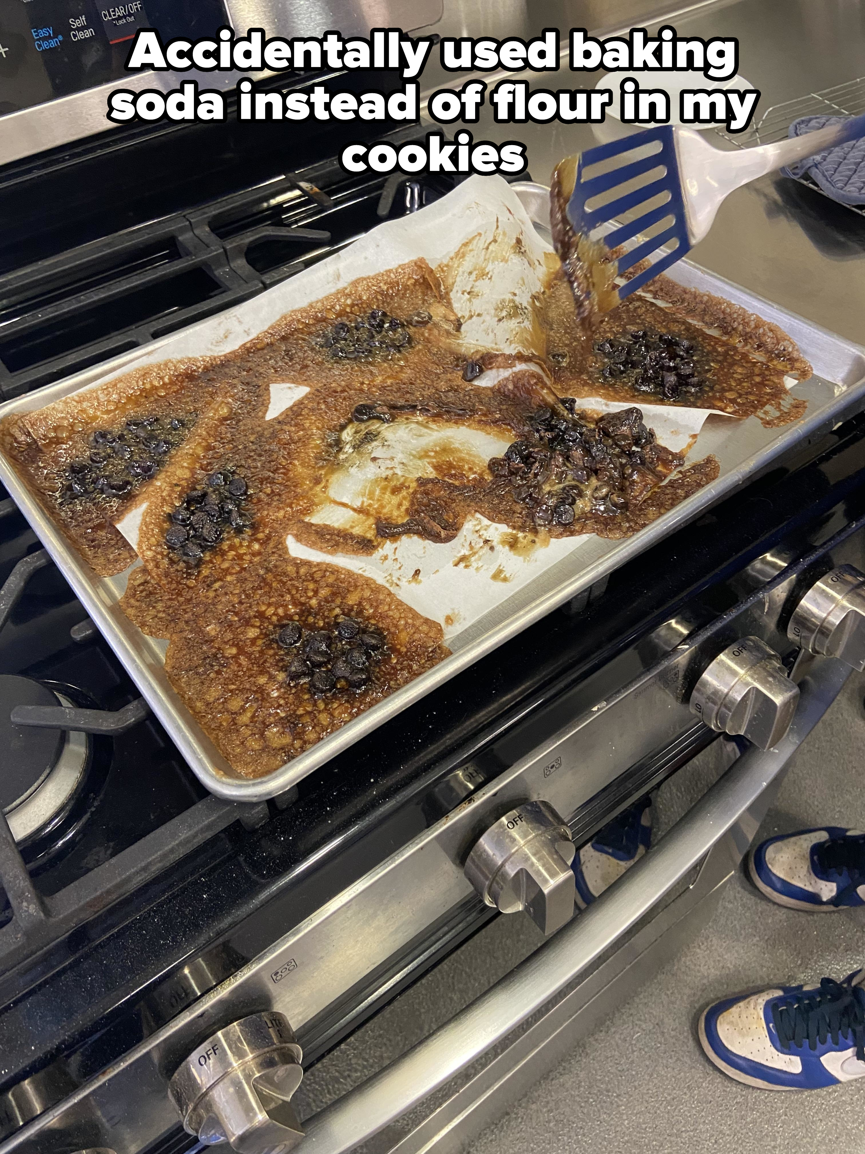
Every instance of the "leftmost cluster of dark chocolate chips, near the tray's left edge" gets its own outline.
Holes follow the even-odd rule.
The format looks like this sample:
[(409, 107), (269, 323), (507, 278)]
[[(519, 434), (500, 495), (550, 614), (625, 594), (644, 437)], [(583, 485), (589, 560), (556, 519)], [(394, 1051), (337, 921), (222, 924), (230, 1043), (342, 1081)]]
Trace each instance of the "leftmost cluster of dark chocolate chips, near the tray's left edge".
[(70, 462), (58, 499), (125, 497), (155, 477), (195, 424), (185, 417), (127, 417), (120, 428), (96, 429), (90, 452)]

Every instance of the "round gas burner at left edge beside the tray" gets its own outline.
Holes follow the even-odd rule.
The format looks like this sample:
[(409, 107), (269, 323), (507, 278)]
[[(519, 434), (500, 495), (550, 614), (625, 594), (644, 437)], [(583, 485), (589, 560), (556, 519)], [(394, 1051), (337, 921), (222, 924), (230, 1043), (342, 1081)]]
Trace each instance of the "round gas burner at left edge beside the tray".
[(28, 864), (53, 859), (74, 840), (89, 814), (85, 799), (104, 784), (110, 758), (101, 748), (95, 757), (99, 739), (78, 730), (14, 725), (10, 713), (21, 705), (75, 709), (85, 704), (90, 703), (72, 687), (0, 675), (0, 742), (10, 751), (0, 780), (0, 808)]

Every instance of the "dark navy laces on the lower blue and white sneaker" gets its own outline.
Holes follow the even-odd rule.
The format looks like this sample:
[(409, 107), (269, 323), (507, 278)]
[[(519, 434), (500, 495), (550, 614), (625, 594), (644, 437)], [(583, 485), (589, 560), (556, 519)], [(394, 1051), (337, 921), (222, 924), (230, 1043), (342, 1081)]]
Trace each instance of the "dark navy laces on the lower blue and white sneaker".
[(802, 1049), (807, 1041), (812, 1050), (832, 1037), (835, 1046), (841, 1037), (852, 1037), (856, 1057), (865, 1062), (865, 990), (823, 977), (820, 988), (802, 990), (789, 998), (773, 1002), (772, 1020), (777, 1039), (784, 1049), (791, 1044)]

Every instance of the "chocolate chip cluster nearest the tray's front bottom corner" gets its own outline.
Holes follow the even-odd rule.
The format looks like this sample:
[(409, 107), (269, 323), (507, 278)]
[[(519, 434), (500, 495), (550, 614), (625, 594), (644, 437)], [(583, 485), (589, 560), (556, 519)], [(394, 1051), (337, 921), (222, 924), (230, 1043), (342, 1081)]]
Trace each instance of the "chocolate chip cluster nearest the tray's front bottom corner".
[(363, 689), (385, 653), (384, 635), (353, 617), (340, 617), (332, 629), (306, 629), (289, 621), (276, 639), (291, 654), (288, 683), (307, 683), (317, 696)]

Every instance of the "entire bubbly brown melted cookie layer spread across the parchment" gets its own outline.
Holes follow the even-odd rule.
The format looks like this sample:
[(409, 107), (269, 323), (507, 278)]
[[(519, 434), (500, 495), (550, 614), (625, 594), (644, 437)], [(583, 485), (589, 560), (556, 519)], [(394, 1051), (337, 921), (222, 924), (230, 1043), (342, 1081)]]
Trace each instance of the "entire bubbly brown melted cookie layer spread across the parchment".
[[(135, 559), (114, 522), (141, 511), (143, 565), (123, 608), (168, 639), (167, 675), (235, 773), (271, 772), (447, 653), (437, 622), (337, 564), (339, 554), (371, 555), (400, 535), (447, 542), (475, 514), (507, 526), (513, 552), (550, 537), (623, 538), (717, 475), (714, 458), (686, 465), (659, 445), (637, 405), (581, 409), (588, 396), (657, 399), (618, 381), (601, 388), (561, 290), (572, 315), (570, 288), (555, 282), (539, 302), (548, 355), (534, 367), (467, 347), (443, 282), (414, 261), (287, 314), (232, 353), (137, 369), (0, 427), (7, 455), (98, 572)], [(807, 375), (759, 319), (702, 298), (671, 304), (632, 298), (603, 323), (647, 328), (650, 315), (659, 330), (692, 335), (713, 366), (732, 366), (727, 407), (704, 397), (700, 407), (734, 412), (736, 402), (744, 414), (747, 396), (749, 411), (764, 412), (770, 379)], [(573, 344), (557, 359), (565, 337)], [(481, 365), (492, 364), (512, 372), (489, 388)], [(272, 385), (299, 388), (266, 419)], [(152, 469), (148, 454), (159, 458)], [(72, 473), (85, 458), (90, 471)], [(115, 458), (137, 473), (125, 492), (105, 492), (123, 480)], [(292, 557), (288, 537), (321, 556)]]

